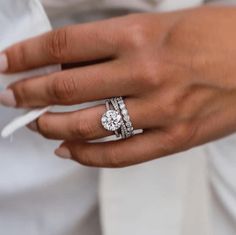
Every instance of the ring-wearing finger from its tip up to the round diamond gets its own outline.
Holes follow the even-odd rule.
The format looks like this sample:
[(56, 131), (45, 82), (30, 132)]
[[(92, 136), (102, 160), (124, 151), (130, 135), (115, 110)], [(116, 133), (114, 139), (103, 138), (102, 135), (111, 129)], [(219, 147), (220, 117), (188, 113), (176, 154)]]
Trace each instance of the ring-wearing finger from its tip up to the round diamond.
[[(87, 108), (69, 113), (47, 113), (36, 122), (37, 130), (48, 139), (91, 140), (112, 135), (101, 124), (101, 117), (106, 111), (105, 105)], [(31, 124), (30, 128), (35, 128)]]

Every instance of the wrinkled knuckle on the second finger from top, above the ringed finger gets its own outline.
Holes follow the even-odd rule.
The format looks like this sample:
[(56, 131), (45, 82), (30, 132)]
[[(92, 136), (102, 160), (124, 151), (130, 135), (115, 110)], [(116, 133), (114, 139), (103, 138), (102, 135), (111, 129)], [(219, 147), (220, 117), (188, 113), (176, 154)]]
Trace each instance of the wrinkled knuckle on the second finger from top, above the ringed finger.
[(52, 97), (62, 103), (70, 102), (78, 90), (77, 81), (74, 77), (56, 77), (52, 80)]

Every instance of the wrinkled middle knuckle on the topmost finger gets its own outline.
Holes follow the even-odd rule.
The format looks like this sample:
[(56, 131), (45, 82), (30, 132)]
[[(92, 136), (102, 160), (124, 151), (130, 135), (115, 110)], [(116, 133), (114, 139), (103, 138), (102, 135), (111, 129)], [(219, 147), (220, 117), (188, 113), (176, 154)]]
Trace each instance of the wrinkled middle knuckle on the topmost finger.
[(48, 55), (55, 61), (66, 58), (68, 52), (68, 29), (62, 28), (51, 32), (45, 40), (45, 49)]

